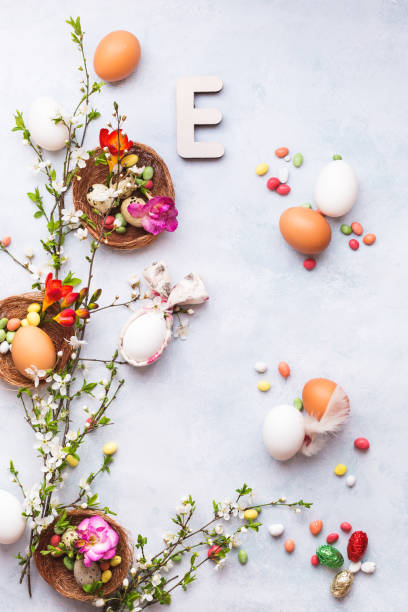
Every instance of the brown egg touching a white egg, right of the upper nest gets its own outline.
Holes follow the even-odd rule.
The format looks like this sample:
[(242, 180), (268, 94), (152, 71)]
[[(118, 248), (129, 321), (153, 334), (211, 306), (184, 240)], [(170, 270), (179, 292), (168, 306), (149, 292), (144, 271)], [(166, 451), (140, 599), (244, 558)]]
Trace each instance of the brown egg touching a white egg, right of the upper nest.
[(288, 208), (281, 214), (279, 228), (286, 242), (306, 255), (321, 253), (330, 244), (330, 225), (311, 208)]

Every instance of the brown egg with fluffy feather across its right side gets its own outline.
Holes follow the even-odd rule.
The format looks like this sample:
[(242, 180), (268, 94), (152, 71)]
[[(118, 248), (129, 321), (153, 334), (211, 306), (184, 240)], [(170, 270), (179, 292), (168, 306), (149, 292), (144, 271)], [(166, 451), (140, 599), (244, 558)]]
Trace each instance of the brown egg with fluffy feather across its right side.
[(302, 391), (304, 409), (318, 421), (327, 414), (349, 412), (350, 402), (343, 389), (327, 378), (312, 378)]

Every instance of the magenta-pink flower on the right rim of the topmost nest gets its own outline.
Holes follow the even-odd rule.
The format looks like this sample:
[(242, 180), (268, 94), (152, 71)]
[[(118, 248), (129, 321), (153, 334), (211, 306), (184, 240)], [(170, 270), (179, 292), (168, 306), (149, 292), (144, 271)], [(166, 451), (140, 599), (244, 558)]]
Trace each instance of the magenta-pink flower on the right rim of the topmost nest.
[(149, 234), (160, 234), (167, 230), (174, 232), (177, 229), (176, 219), (178, 210), (171, 198), (157, 196), (150, 198), (148, 202), (131, 202), (128, 212), (132, 217), (140, 220), (142, 227)]

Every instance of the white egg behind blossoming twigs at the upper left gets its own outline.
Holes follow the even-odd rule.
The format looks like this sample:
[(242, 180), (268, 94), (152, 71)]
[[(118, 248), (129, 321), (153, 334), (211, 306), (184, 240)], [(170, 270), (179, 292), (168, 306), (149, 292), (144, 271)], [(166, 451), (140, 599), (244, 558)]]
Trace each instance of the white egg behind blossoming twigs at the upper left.
[(68, 139), (66, 126), (53, 121), (60, 113), (58, 103), (51, 98), (37, 98), (30, 106), (27, 125), (31, 138), (47, 151), (62, 149)]

